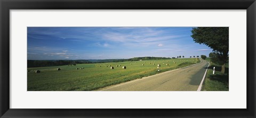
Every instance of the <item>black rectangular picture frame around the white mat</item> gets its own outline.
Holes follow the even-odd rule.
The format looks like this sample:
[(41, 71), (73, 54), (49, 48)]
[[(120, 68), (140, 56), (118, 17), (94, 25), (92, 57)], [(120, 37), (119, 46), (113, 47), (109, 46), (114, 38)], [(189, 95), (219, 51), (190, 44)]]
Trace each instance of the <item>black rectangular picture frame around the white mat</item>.
[[(255, 117), (255, 0), (0, 0), (1, 117)], [(10, 10), (178, 9), (246, 10), (246, 109), (12, 109), (10, 108)], [(236, 103), (234, 103), (236, 104)]]

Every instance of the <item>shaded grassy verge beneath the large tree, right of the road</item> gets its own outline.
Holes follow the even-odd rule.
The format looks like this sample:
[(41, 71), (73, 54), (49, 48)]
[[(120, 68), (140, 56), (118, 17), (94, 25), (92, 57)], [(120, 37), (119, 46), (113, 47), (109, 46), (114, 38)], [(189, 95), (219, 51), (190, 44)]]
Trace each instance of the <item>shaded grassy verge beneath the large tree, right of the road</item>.
[[(211, 62), (210, 58), (206, 58), (207, 61)], [(215, 74), (213, 75), (213, 67), (215, 67)], [(228, 91), (229, 85), (229, 67), (228, 63), (225, 67), (225, 74), (222, 74), (221, 65), (211, 62), (207, 75), (204, 81), (204, 91)]]

